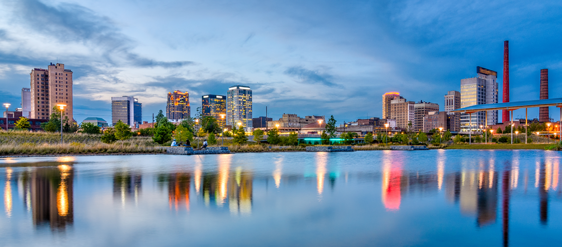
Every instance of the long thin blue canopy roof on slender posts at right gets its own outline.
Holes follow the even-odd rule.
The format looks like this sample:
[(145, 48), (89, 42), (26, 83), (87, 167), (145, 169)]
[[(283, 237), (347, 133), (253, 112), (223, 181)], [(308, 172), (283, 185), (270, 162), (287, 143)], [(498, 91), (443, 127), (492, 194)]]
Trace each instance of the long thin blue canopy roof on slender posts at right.
[(451, 112), (474, 113), (480, 111), (493, 111), (493, 110), (513, 111), (515, 109), (520, 109), (520, 108), (549, 107), (549, 106), (562, 107), (562, 98), (537, 99), (537, 100), (496, 103), (496, 104), (475, 104), (474, 106), (456, 109)]

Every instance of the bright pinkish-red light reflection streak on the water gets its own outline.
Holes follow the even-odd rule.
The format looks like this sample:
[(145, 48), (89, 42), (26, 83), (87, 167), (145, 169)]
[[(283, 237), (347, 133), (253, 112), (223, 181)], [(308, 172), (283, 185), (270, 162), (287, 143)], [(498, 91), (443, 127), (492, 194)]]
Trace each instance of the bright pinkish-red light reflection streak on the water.
[(387, 211), (398, 211), (401, 202), (402, 163), (394, 161), (389, 151), (383, 151), (382, 200)]

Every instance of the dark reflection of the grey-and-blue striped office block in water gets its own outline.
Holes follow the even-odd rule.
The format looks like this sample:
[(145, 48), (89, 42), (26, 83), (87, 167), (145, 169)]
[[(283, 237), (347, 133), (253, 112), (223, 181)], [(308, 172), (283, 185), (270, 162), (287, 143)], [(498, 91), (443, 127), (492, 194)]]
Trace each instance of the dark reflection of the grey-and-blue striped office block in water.
[(113, 175), (113, 198), (119, 200), (125, 207), (127, 200), (134, 199), (138, 204), (138, 198), (142, 188), (142, 176), (138, 172), (125, 170), (115, 171)]

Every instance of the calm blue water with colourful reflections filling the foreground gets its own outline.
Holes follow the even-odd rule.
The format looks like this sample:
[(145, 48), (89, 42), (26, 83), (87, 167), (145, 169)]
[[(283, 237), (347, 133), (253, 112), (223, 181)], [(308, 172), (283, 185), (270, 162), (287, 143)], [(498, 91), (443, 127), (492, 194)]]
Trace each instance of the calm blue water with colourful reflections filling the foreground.
[(559, 152), (2, 158), (2, 246), (559, 246)]

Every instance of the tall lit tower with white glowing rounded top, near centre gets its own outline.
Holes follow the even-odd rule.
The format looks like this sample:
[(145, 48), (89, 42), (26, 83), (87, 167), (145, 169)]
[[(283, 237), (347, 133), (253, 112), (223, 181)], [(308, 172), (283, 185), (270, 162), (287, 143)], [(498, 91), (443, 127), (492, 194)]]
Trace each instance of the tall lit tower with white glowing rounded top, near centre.
[(226, 125), (238, 128), (238, 123), (252, 131), (252, 90), (249, 86), (231, 86), (226, 92)]

